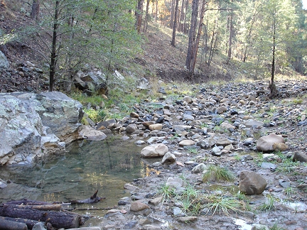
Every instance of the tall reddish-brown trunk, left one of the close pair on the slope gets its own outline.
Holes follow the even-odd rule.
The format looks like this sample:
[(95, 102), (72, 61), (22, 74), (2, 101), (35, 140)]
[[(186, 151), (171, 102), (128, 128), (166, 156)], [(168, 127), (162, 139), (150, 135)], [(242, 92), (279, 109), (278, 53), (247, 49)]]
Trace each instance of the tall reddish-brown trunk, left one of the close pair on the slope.
[(185, 67), (190, 71), (191, 60), (193, 58), (193, 51), (195, 45), (195, 31), (198, 17), (198, 4), (199, 0), (193, 0), (192, 4), (192, 16), (190, 22), (190, 31), (189, 31), (189, 39), (188, 39), (188, 53), (185, 60)]

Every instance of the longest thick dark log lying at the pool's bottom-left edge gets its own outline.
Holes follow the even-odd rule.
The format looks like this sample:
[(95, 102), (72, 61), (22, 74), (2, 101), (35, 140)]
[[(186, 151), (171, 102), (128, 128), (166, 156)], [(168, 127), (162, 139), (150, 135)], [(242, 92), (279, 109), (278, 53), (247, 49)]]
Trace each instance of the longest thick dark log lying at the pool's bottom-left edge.
[(67, 211), (42, 211), (37, 209), (18, 208), (14, 205), (0, 206), (1, 217), (33, 219), (35, 221), (44, 221), (52, 224), (56, 229), (73, 229), (83, 224), (82, 217), (79, 214)]

